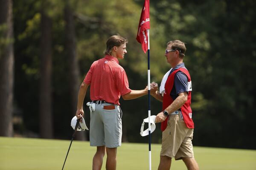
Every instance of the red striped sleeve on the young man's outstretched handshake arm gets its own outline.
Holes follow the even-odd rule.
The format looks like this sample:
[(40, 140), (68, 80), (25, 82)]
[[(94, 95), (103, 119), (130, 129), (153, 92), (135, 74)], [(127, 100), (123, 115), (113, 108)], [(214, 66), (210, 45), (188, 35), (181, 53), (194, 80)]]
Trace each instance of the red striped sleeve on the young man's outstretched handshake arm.
[(116, 75), (116, 86), (122, 95), (128, 94), (131, 92), (129, 88), (129, 82), (125, 70), (119, 71), (119, 74)]

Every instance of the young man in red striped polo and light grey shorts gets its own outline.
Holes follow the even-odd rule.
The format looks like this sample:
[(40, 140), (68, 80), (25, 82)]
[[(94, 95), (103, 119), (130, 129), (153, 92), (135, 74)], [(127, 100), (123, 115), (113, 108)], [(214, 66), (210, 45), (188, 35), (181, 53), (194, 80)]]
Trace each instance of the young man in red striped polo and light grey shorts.
[[(99, 59), (90, 67), (79, 94), (76, 116), (79, 119), (84, 115), (82, 108), (84, 96), (90, 85), (90, 146), (96, 146), (97, 151), (93, 157), (93, 170), (102, 167), (105, 151), (107, 153), (107, 170), (116, 170), (117, 147), (121, 146), (122, 139), (122, 111), (119, 98), (136, 99), (148, 94), (148, 89), (131, 90), (125, 70), (119, 65), (123, 59), (128, 40), (113, 35), (106, 42), (105, 57)], [(152, 89), (155, 93), (157, 88)], [(81, 115), (80, 115), (81, 114)]]

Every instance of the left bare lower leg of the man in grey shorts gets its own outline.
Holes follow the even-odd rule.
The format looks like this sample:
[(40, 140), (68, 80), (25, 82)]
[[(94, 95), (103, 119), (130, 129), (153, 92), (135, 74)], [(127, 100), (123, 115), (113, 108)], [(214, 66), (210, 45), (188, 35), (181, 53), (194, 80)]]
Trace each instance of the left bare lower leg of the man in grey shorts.
[(93, 157), (93, 170), (101, 170), (105, 149), (105, 146), (97, 146), (97, 151)]

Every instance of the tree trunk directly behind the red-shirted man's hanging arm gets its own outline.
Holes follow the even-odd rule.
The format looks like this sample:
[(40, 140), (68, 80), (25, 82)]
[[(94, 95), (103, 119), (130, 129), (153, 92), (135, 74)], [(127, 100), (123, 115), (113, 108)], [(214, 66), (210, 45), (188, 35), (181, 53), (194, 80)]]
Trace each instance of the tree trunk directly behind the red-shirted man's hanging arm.
[[(78, 91), (79, 91), (79, 65), (76, 56), (76, 35), (75, 35), (75, 26), (74, 26), (74, 17), (73, 11), (70, 9), (70, 6), (66, 4), (64, 9), (65, 20), (66, 20), (66, 49), (67, 49), (67, 56), (68, 56), (68, 65), (69, 65), (69, 86), (70, 86), (70, 97), (71, 97), (71, 110), (72, 116), (76, 113), (76, 106), (77, 106), (77, 98), (78, 98)], [(87, 132), (85, 132), (87, 133)], [(85, 133), (77, 133), (76, 139), (77, 140), (86, 140)]]

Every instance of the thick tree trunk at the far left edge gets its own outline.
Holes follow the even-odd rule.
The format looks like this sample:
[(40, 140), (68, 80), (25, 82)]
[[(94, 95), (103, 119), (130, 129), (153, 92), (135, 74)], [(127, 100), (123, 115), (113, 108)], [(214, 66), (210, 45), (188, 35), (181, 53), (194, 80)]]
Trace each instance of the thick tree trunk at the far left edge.
[(14, 52), (12, 0), (0, 0), (0, 136), (13, 136)]

